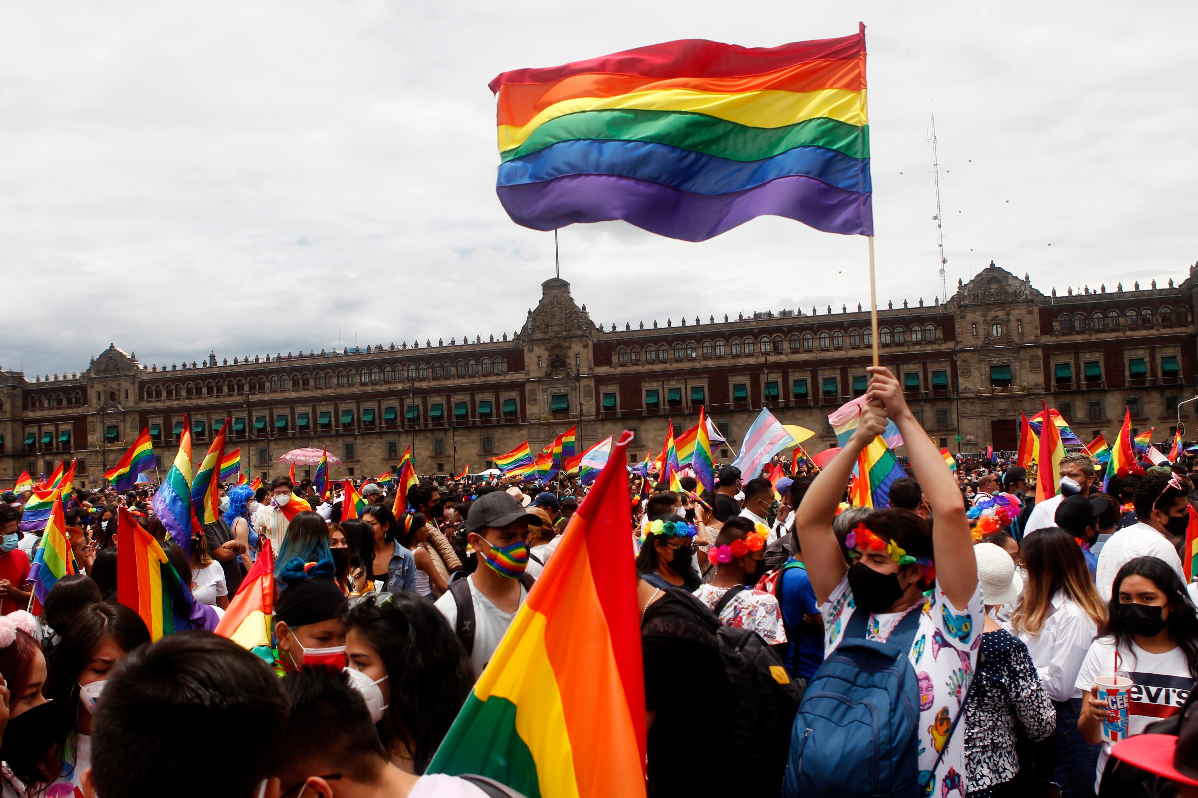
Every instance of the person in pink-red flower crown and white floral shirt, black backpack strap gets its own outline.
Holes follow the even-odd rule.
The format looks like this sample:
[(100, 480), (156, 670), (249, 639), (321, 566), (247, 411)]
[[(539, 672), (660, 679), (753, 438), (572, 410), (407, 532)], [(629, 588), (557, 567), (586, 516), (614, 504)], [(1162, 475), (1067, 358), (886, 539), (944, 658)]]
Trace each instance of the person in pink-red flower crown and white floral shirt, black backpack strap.
[(754, 524), (744, 516), (728, 518), (715, 546), (707, 552), (708, 561), (716, 568), (715, 578), (712, 584), (701, 585), (695, 597), (715, 610), (727, 592), (736, 590), (720, 608), (720, 622), (734, 629), (752, 629), (767, 644), (776, 646), (786, 642), (782, 610), (773, 595), (752, 587), (762, 575), (768, 536), (763, 524)]

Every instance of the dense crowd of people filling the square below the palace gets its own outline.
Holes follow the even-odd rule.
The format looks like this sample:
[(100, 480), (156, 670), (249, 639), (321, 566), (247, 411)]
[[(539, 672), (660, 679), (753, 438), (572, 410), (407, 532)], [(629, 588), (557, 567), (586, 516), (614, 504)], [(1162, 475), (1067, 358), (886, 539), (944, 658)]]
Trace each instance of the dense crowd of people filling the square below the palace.
[[(907, 476), (888, 506), (853, 506), (854, 467), (889, 422)], [(611, 543), (640, 577), (649, 796), (1198, 794), (1186, 464), (1103, 489), (1067, 455), (1036, 501), (1035, 471), (1002, 457), (948, 468), (875, 368), (822, 470), (770, 470), (718, 467), (712, 491), (689, 471), (680, 492), (629, 480), (631, 535)], [(568, 475), (424, 480), (397, 501), (370, 482), (349, 512), (280, 476), (222, 489), (188, 553), (147, 489), (77, 489), (77, 573), (38, 602), (42, 532), (19, 531), (28, 494), (6, 492), (2, 796), (518, 794), (428, 769), (586, 493)], [(151, 641), (120, 602), (126, 512), (211, 623)], [(252, 652), (210, 629), (267, 549), (271, 646)], [(1112, 676), (1131, 683), (1118, 733)]]

